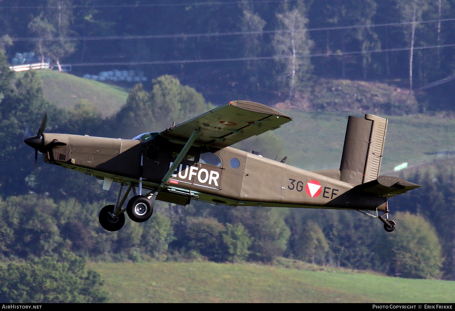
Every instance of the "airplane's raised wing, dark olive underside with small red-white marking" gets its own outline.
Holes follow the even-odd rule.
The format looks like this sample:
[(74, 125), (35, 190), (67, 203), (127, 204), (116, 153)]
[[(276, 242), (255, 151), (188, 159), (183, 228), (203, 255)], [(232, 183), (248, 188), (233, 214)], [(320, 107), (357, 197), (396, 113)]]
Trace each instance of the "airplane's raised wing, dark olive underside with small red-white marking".
[(275, 130), (291, 120), (288, 115), (266, 105), (235, 100), (163, 130), (159, 135), (186, 143), (192, 133), (199, 130), (193, 145), (221, 149), (253, 135)]

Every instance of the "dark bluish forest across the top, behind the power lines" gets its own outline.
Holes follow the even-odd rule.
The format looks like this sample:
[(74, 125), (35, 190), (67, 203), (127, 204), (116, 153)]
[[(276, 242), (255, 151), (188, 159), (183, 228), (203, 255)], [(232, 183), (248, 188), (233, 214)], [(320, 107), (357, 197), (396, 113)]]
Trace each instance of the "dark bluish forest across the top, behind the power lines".
[[(324, 79), (349, 79), (412, 90), (417, 111), (425, 112), (453, 109), (453, 6), (451, 0), (9, 0), (0, 5), (0, 36), (10, 62), (15, 53), (35, 52), (57, 67), (70, 64), (79, 76), (112, 69), (142, 70), (149, 80), (174, 75), (216, 105), (232, 98), (308, 105), (321, 96), (311, 90)], [(333, 99), (324, 102), (337, 109)]]

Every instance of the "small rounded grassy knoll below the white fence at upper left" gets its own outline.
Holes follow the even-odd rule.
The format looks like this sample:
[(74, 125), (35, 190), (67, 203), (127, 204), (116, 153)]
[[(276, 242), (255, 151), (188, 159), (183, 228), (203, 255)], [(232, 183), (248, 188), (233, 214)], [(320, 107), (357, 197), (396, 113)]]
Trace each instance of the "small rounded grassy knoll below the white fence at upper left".
[[(20, 77), (23, 73), (18, 72), (16, 75)], [(43, 80), (45, 99), (61, 108), (73, 107), (82, 102), (97, 107), (103, 116), (109, 116), (125, 105), (128, 96), (127, 91), (118, 86), (65, 72), (40, 69), (36, 73)]]

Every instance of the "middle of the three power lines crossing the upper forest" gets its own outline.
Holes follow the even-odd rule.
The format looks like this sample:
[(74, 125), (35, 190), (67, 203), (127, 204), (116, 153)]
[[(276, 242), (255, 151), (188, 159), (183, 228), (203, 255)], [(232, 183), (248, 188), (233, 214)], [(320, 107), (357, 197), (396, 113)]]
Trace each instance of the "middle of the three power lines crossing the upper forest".
[[(411, 25), (411, 24), (426, 24), (442, 21), (454, 21), (455, 19), (443, 20), (425, 20), (419, 22), (399, 22), (387, 24), (371, 24), (371, 25), (351, 25), (351, 26), (333, 26), (333, 27), (319, 27), (308, 28), (301, 31), (318, 31), (318, 30), (343, 30), (353, 28), (369, 28), (369, 27), (384, 27), (384, 26), (398, 26), (398, 25)], [(295, 30), (294, 30), (295, 31)], [(69, 37), (69, 38), (9, 38), (0, 39), (1, 41), (25, 41), (25, 40), (47, 40), (47, 41), (75, 41), (75, 40), (138, 40), (138, 39), (172, 39), (172, 38), (193, 38), (193, 37), (211, 37), (211, 36), (229, 36), (229, 35), (261, 35), (261, 34), (275, 34), (286, 33), (291, 30), (265, 30), (265, 31), (231, 31), (222, 33), (203, 33), (203, 34), (174, 34), (174, 35), (126, 35), (126, 36), (106, 36), (106, 37)]]

